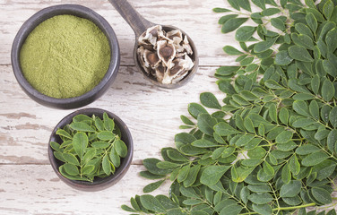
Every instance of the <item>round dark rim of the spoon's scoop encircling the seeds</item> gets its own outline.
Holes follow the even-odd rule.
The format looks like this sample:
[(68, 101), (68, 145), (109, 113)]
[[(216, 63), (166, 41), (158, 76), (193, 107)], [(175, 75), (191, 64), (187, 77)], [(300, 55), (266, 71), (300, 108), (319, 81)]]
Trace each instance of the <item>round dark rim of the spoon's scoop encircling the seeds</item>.
[[(157, 24), (154, 24), (157, 25)], [(177, 27), (174, 26), (170, 26), (170, 25), (161, 25), (162, 29), (165, 31), (169, 31), (169, 30), (180, 30)], [(160, 83), (157, 81), (157, 79), (155, 77), (153, 77), (151, 74), (148, 74), (145, 72), (145, 70), (143, 69), (143, 67), (141, 66), (141, 63), (139, 62), (139, 59), (137, 57), (137, 48), (138, 48), (138, 38), (135, 39), (136, 44), (134, 46), (134, 63), (137, 66), (138, 70), (141, 71), (143, 73), (143, 75), (145, 76), (145, 78), (147, 80), (149, 80), (152, 84), (161, 87), (161, 88), (166, 88), (166, 89), (177, 89), (179, 87), (184, 86), (187, 82), (191, 81), (195, 75), (195, 73), (198, 70), (198, 65), (199, 65), (199, 57), (198, 57), (198, 52), (196, 50), (196, 47), (194, 45), (193, 40), (186, 34), (186, 32), (184, 30), (181, 30), (181, 32), (183, 33), (184, 36), (187, 36), (188, 42), (190, 44), (190, 46), (192, 47), (193, 50), (193, 55), (191, 57), (191, 59), (194, 62), (194, 67), (191, 69), (191, 71), (189, 71), (186, 76), (180, 80), (177, 83), (171, 83), (171, 84), (165, 84), (165, 83)]]

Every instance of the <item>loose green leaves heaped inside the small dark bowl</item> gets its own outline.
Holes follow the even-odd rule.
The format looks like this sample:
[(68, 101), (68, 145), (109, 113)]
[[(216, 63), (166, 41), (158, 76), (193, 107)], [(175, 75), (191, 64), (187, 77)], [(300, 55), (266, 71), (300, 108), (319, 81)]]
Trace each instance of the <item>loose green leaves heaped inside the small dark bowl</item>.
[(62, 176), (72, 180), (90, 181), (115, 173), (125, 158), (127, 147), (113, 119), (77, 115), (73, 122), (56, 131), (61, 142), (50, 142)]

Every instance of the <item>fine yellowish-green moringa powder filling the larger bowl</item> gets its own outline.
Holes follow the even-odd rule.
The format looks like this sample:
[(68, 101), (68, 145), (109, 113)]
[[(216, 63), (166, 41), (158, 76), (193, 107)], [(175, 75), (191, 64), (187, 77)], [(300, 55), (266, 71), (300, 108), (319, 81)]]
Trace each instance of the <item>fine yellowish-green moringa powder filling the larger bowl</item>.
[(24, 77), (39, 92), (57, 99), (81, 96), (107, 73), (110, 47), (91, 21), (56, 15), (39, 24), (22, 45)]

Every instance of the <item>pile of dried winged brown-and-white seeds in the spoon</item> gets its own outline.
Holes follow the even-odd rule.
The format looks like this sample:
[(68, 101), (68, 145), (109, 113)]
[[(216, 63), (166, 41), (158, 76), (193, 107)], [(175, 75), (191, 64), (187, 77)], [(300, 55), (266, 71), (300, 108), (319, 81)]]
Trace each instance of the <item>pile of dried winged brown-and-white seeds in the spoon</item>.
[(177, 83), (193, 68), (193, 50), (180, 30), (146, 30), (138, 39), (137, 57), (143, 70), (164, 84)]

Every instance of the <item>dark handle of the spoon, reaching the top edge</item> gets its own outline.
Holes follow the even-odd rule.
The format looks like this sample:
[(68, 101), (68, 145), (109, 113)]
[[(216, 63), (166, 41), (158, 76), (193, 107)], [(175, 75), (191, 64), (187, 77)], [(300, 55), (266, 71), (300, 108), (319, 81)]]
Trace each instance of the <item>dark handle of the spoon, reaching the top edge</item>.
[(127, 0), (109, 0), (109, 2), (134, 30), (136, 38), (138, 38), (145, 30), (155, 25), (136, 12), (134, 7), (128, 3)]

